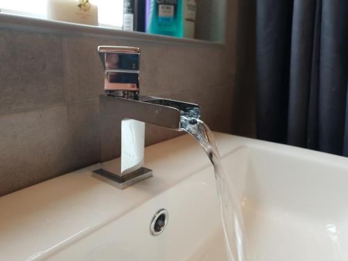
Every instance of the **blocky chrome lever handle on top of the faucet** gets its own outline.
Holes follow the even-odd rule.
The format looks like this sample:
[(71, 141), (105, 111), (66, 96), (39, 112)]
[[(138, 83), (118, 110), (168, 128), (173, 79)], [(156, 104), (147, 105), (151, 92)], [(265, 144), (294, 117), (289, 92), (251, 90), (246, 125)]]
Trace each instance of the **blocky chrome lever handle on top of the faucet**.
[(98, 46), (104, 66), (104, 90), (123, 96), (139, 93), (140, 49), (138, 47)]

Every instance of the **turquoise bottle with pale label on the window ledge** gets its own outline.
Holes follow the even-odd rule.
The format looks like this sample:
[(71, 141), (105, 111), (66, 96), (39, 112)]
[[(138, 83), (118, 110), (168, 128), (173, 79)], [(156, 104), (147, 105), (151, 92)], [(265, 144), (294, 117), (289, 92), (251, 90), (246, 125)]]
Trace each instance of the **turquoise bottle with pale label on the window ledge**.
[(146, 32), (184, 36), (182, 0), (147, 0)]

